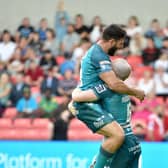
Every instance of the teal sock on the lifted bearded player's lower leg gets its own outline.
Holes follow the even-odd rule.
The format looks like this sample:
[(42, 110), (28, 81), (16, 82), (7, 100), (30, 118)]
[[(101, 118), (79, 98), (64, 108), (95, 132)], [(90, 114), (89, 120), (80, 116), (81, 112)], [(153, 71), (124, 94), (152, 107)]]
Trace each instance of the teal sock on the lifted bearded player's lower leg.
[(113, 155), (113, 153), (109, 153), (101, 147), (99, 154), (96, 158), (96, 164), (94, 168), (104, 168), (108, 160), (111, 159)]

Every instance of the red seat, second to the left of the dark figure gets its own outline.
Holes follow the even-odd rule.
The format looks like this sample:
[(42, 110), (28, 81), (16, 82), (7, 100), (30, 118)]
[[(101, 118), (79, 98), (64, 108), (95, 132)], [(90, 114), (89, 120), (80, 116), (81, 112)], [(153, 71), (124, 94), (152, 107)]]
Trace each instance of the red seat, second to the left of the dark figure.
[(14, 127), (15, 128), (31, 128), (32, 127), (32, 120), (26, 118), (18, 118), (14, 120)]

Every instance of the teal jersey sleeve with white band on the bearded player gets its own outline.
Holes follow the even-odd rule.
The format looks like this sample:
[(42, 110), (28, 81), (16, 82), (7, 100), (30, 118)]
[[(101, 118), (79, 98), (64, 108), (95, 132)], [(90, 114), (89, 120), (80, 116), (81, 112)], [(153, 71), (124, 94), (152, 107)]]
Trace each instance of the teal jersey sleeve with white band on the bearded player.
[(112, 70), (111, 61), (105, 54), (96, 52), (91, 56), (91, 63), (99, 74)]

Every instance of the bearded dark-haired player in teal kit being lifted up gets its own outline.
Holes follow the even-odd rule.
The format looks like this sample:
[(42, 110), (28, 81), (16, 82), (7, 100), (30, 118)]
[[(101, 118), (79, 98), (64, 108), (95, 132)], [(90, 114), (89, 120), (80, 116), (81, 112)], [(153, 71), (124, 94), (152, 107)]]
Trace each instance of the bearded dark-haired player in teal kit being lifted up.
[[(81, 90), (87, 90), (100, 84), (106, 84), (110, 90), (117, 93), (135, 96), (144, 99), (144, 92), (130, 88), (113, 72), (109, 55), (113, 55), (116, 49), (124, 46), (126, 32), (118, 25), (110, 25), (103, 31), (102, 39), (94, 44), (81, 61)], [(109, 54), (109, 55), (108, 55)], [(103, 86), (99, 93), (103, 92)], [(106, 161), (112, 158), (114, 153), (124, 141), (124, 131), (115, 121), (114, 117), (105, 112), (103, 101), (93, 103), (75, 103), (79, 112), (78, 118), (83, 121), (93, 132), (106, 137), (100, 147), (95, 168), (103, 168)]]

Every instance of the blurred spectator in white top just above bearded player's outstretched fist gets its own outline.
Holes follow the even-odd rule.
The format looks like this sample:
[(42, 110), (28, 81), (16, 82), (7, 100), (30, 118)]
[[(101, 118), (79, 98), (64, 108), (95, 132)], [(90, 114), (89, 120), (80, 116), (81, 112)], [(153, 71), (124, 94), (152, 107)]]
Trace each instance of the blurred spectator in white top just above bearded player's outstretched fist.
[(138, 88), (143, 90), (145, 94), (149, 94), (154, 90), (155, 85), (150, 70), (144, 72), (143, 77), (138, 81)]

